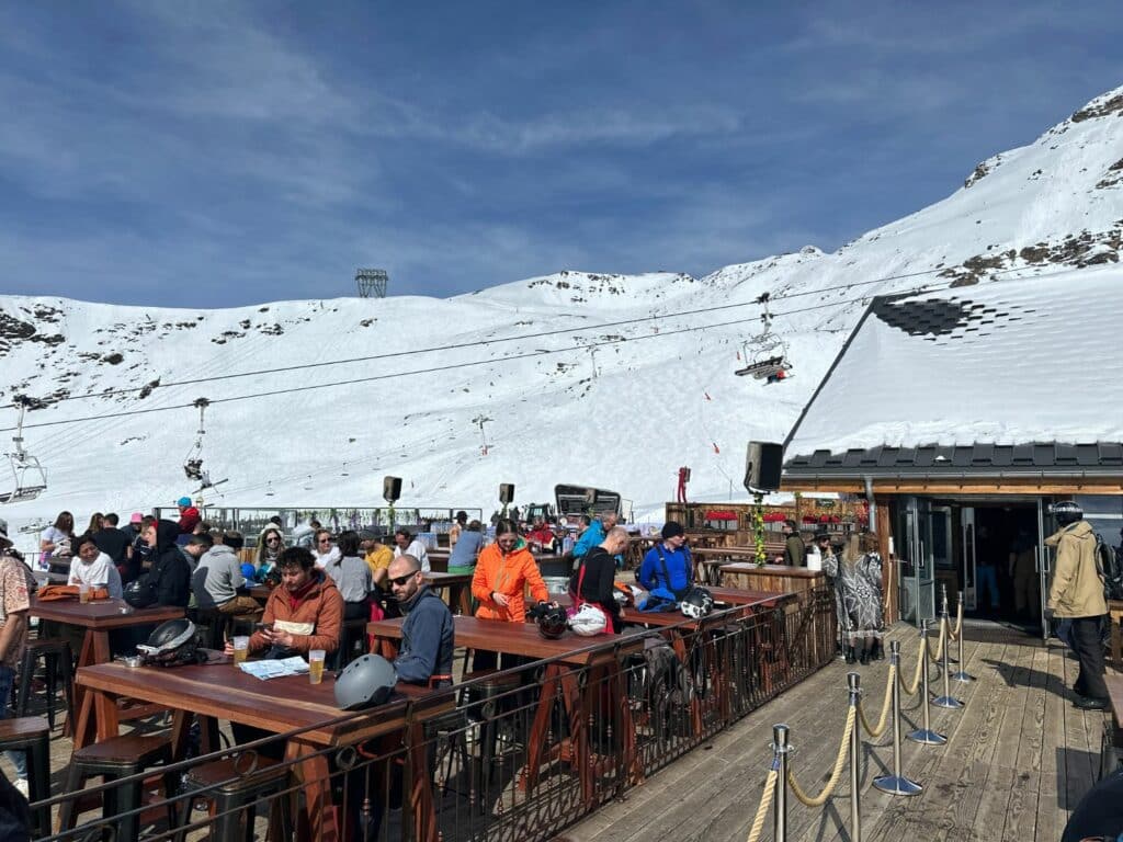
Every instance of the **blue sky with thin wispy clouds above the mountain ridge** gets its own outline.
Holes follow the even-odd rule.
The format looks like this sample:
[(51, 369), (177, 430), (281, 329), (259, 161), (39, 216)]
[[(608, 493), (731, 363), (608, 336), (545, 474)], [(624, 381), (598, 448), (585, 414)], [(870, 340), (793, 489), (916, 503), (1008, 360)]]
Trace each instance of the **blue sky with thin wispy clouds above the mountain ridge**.
[(833, 250), (1123, 83), (1114, 0), (920, 7), (7, 2), (0, 292), (702, 275)]

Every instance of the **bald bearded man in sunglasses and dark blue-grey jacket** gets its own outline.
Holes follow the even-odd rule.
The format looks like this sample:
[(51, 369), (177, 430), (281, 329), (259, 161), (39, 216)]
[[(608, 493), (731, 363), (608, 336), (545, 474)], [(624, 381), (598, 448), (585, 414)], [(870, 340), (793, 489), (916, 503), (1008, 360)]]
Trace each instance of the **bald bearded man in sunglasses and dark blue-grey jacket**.
[(447, 687), (453, 683), (453, 613), (424, 584), (421, 562), (403, 553), (390, 562), (387, 580), (405, 615), (394, 659), (398, 679)]

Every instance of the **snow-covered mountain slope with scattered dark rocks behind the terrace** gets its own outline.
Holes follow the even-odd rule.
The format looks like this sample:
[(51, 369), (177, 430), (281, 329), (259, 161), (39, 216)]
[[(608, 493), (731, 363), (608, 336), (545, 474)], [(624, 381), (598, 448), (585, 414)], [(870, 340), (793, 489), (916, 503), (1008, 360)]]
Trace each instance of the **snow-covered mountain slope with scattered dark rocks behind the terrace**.
[[(29, 413), (26, 440), (49, 488), (0, 516), (65, 507), (82, 522), (190, 493), (181, 466), (198, 412), (154, 410), (198, 397), (212, 402), (206, 467), (229, 477), (212, 503), (377, 505), (382, 476), (394, 474), (402, 505), (490, 511), (501, 482), (517, 484), (517, 502), (579, 482), (619, 489), (645, 512), (672, 497), (682, 465), (693, 469), (692, 497), (741, 498), (746, 442), (784, 438), (869, 296), (1117, 264), (1121, 249), (1123, 88), (833, 254), (806, 247), (702, 278), (559, 272), (446, 300), (234, 310), (2, 296), (0, 400), (48, 401)], [(770, 345), (754, 303), (764, 293), (794, 365), (774, 385), (733, 374)], [(542, 336), (564, 329), (579, 330)], [(424, 350), (448, 345), (460, 347)], [(440, 370), (466, 363), (478, 365)], [(101, 396), (49, 403), (89, 394)], [(117, 417), (126, 412), (143, 414)], [(36, 427), (79, 418), (89, 420)], [(0, 412), (2, 427), (15, 419)]]

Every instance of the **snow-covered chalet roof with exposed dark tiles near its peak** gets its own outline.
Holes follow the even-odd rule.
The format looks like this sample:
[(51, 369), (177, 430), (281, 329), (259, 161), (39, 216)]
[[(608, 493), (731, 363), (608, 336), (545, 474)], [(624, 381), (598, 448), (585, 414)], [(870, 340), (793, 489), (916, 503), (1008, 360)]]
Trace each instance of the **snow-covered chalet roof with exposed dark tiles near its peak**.
[[(786, 468), (901, 467), (933, 446), (969, 448), (978, 466), (979, 445), (1121, 442), (1121, 327), (1114, 266), (877, 298), (788, 436)], [(877, 458), (828, 458), (847, 451)]]

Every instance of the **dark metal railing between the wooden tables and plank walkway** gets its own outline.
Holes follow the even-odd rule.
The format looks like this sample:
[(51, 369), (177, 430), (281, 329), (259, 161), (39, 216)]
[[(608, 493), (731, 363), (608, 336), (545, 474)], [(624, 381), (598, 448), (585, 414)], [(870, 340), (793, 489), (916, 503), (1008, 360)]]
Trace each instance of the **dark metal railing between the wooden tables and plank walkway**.
[[(216, 833), (232, 832), (221, 822), (240, 821), (237, 811), (223, 816), (200, 809), (207, 796), (235, 785), (254, 789), (280, 776), (280, 785), (261, 787), (252, 799), (264, 838), (270, 822), (281, 825), (282, 816), (307, 821), (317, 785), (309, 770), (319, 759), (327, 775), (319, 781), (323, 797), (335, 805), (326, 815), (338, 820), (338, 839), (547, 840), (830, 662), (834, 601), (829, 587), (820, 587), (752, 615), (733, 607), (697, 623), (574, 639), (575, 647), (586, 641), (563, 659), (468, 671), (445, 696), (392, 702), (335, 721), (340, 733), (364, 740), (372, 723), (393, 723), (375, 740), (340, 736), (340, 745), (265, 768), (259, 756), (283, 757), (302, 732), (270, 735), (81, 795), (125, 791), (146, 777), (150, 785), (154, 775), (163, 779), (172, 772), (181, 780), (177, 790), (135, 811), (137, 838), (176, 839), (171, 825), (186, 815), (190, 839), (192, 829), (194, 838), (208, 825)], [(322, 733), (325, 725), (316, 730)], [(209, 788), (190, 782), (231, 758), (226, 782), (212, 780)], [(35, 806), (56, 809), (75, 795)], [(100, 804), (89, 807), (100, 811)], [(49, 839), (93, 839), (103, 831), (112, 839), (127, 826), (120, 816), (102, 823), (100, 812), (81, 818), (77, 827)]]

